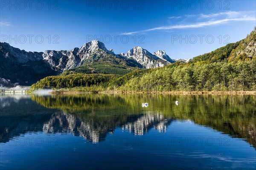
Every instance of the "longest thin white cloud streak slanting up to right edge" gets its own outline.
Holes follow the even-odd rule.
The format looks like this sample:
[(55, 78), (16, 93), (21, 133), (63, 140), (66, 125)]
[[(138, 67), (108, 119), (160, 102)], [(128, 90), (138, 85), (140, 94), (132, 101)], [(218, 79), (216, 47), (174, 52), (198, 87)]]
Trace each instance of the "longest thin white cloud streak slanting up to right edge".
[(141, 31), (126, 32), (126, 33), (123, 33), (123, 35), (145, 33), (148, 31), (156, 31), (156, 30), (202, 28), (202, 27), (206, 27), (206, 26), (214, 26), (214, 25), (229, 23), (231, 21), (256, 21), (256, 18), (255, 17), (225, 18), (222, 20), (212, 20), (212, 21), (206, 21), (206, 22), (200, 22), (200, 23), (183, 24), (183, 25), (175, 25), (175, 26), (161, 26), (161, 27), (151, 28), (151, 29), (146, 29), (146, 30), (141, 30)]

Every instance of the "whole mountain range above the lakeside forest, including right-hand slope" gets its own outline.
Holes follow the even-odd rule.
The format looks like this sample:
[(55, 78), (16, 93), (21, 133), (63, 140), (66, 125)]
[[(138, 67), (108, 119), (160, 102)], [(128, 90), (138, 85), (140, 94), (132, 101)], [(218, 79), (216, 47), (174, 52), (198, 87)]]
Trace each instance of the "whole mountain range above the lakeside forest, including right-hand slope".
[[(143, 68), (158, 68), (174, 62), (210, 64), (252, 60), (256, 57), (256, 28), (246, 38), (227, 44), (193, 59), (171, 59), (165, 51), (150, 53), (134, 47), (115, 54), (104, 43), (94, 40), (69, 51), (26, 52), (0, 42), (0, 87), (32, 85), (53, 75), (75, 73), (125, 75)], [(167, 66), (169, 67), (169, 66)], [(239, 68), (240, 69), (240, 68)]]

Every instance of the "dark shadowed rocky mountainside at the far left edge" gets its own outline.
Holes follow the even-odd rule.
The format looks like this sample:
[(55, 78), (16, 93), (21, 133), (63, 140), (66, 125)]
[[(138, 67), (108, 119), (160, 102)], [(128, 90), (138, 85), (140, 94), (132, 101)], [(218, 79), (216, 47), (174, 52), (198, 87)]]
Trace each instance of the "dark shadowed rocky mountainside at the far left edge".
[(42, 55), (0, 43), (0, 78), (10, 80), (12, 84), (31, 85), (44, 77), (60, 74)]

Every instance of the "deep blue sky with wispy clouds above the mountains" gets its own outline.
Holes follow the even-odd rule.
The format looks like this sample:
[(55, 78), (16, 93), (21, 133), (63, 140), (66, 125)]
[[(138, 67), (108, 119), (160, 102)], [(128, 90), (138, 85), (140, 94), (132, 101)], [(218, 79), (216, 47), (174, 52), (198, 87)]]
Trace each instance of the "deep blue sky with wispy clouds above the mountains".
[(26, 51), (97, 39), (116, 54), (141, 46), (187, 59), (239, 41), (255, 26), (255, 0), (0, 1), (0, 41)]

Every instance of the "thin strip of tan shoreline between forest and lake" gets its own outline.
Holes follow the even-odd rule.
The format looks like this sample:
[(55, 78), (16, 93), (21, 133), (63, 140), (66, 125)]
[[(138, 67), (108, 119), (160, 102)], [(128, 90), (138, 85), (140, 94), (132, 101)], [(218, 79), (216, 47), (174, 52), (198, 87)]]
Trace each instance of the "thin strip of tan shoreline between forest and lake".
[(256, 91), (52, 91), (50, 94), (254, 94)]

